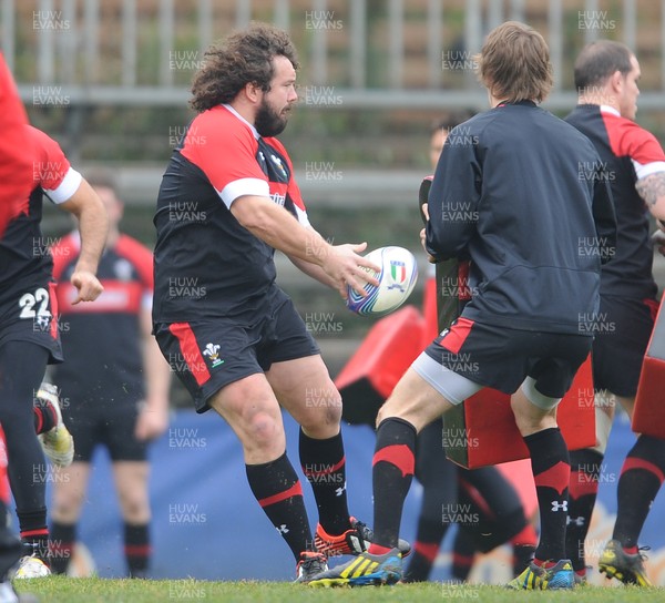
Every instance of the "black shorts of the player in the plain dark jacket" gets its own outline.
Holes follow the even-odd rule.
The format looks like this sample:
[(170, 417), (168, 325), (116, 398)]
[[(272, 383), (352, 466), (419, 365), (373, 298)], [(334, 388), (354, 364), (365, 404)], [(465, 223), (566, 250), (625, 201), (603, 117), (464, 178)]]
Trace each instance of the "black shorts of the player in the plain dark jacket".
[(460, 317), (424, 352), (449, 371), (504, 394), (514, 394), (531, 377), (543, 396), (563, 398), (592, 340), (586, 335), (510, 329)]

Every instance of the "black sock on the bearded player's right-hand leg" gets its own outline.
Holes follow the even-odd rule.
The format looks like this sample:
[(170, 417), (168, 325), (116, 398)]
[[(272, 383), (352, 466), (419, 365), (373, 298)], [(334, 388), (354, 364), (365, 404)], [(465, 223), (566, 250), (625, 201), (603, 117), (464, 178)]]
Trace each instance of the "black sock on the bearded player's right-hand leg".
[(317, 440), (300, 429), (300, 464), (311, 484), (319, 523), (330, 535), (342, 534), (350, 523), (341, 431), (332, 438)]

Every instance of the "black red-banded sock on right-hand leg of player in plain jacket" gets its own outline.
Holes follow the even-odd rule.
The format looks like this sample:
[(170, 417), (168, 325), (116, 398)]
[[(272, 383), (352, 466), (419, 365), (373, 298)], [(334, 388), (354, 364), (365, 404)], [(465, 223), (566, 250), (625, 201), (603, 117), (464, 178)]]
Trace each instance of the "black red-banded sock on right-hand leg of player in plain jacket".
[(524, 437), (531, 454), (540, 510), (541, 534), (536, 561), (554, 561), (565, 555), (565, 524), (571, 466), (565, 441), (557, 427)]

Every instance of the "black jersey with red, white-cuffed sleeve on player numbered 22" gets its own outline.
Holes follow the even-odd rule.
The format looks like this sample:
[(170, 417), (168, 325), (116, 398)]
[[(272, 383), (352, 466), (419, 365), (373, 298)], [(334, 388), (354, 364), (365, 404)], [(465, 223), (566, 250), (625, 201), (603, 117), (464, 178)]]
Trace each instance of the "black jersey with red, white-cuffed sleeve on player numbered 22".
[(47, 134), (27, 126), (33, 146), (30, 196), (21, 200), (19, 214), (11, 219), (0, 239), (0, 299), (10, 300), (31, 287), (44, 286), (51, 279), (53, 263), (49, 242), (42, 236), (42, 202), (68, 201), (81, 184), (59, 144)]

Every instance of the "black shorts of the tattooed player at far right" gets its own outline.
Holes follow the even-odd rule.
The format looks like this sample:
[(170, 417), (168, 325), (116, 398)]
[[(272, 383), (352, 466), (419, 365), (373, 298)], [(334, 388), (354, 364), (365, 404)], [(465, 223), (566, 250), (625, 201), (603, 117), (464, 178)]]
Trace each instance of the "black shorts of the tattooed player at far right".
[(595, 389), (626, 398), (637, 394), (657, 309), (655, 299), (601, 296), (592, 356)]

